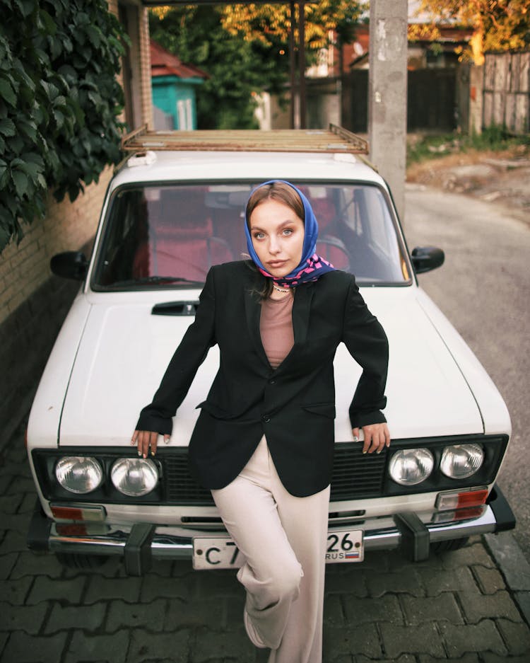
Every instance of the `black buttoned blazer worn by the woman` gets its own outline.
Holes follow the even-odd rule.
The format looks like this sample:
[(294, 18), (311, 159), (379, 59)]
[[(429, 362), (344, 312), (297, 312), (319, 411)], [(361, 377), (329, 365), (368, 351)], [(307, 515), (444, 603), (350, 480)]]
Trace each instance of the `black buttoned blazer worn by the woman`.
[(349, 410), (352, 427), (384, 422), (388, 343), (360, 296), (355, 278), (328, 272), (295, 290), (295, 343), (280, 366), (269, 364), (259, 333), (262, 277), (240, 261), (212, 267), (196, 318), (175, 351), (139, 430), (172, 430), (208, 349), (217, 344), (220, 367), (201, 408), (189, 459), (205, 488), (224, 488), (266, 435), (285, 488), (298, 497), (331, 480), (334, 451), (333, 359), (342, 341), (363, 368)]

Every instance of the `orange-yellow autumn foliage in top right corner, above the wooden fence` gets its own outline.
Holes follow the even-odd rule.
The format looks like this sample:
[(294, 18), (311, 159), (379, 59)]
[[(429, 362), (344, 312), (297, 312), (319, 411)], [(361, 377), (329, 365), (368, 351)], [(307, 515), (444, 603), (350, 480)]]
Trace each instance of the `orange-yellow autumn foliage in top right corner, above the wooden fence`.
[(436, 39), (439, 25), (452, 22), (474, 29), (462, 59), (482, 64), (487, 51), (523, 50), (530, 47), (530, 6), (528, 0), (421, 0), (418, 13), (425, 12), (430, 24), (413, 25), (409, 38)]

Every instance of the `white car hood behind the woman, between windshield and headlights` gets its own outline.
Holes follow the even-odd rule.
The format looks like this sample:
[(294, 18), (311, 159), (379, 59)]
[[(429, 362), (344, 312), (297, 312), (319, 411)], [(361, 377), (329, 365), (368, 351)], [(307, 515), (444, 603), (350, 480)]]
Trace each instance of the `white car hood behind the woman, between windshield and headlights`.
[[(464, 376), (420, 306), (416, 288), (363, 290), (389, 338), (388, 405), (394, 439), (483, 432)], [(191, 294), (191, 293), (190, 293)], [(98, 299), (98, 298), (96, 298)], [(159, 300), (160, 301), (160, 300)], [(151, 402), (191, 316), (158, 316), (155, 302), (96, 301), (90, 308), (61, 415), (61, 445), (130, 444), (139, 411)], [(218, 367), (214, 347), (182, 403), (171, 444), (184, 446)], [(343, 345), (335, 360), (336, 440), (351, 440), (348, 406), (360, 368)]]

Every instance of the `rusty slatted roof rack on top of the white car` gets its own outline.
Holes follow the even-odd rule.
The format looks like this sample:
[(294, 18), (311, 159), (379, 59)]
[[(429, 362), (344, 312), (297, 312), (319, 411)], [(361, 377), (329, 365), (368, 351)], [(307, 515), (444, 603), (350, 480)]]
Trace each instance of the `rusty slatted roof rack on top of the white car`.
[(329, 129), (209, 129), (148, 131), (143, 125), (122, 138), (126, 151), (204, 150), (368, 154), (368, 144), (337, 125)]

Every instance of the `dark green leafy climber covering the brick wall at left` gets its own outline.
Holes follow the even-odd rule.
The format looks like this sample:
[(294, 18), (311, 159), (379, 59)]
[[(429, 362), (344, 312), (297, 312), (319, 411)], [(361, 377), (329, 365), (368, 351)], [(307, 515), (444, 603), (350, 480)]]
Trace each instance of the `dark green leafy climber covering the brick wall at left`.
[(106, 0), (0, 0), (0, 251), (119, 160), (124, 37)]

